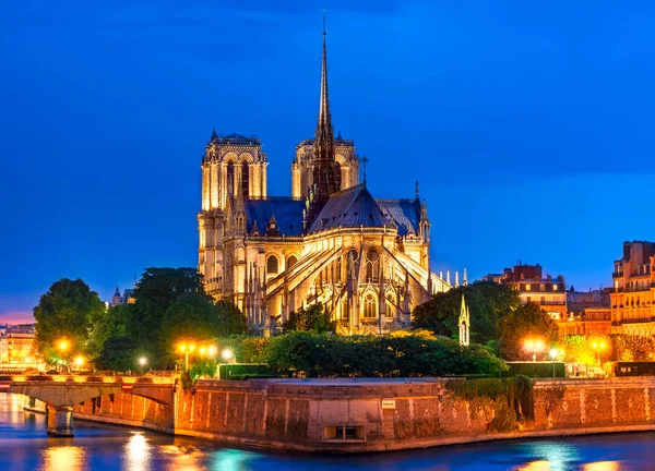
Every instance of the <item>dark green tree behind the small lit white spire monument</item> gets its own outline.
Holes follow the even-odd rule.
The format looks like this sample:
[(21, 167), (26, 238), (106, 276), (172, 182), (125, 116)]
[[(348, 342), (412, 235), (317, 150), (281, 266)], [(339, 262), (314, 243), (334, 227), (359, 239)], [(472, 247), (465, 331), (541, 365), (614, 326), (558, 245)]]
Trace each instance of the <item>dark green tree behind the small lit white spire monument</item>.
[(437, 335), (456, 338), (462, 294), (471, 312), (471, 339), (485, 343), (499, 337), (499, 321), (521, 305), (516, 290), (508, 285), (476, 281), (444, 293), (414, 310), (414, 327), (425, 328)]

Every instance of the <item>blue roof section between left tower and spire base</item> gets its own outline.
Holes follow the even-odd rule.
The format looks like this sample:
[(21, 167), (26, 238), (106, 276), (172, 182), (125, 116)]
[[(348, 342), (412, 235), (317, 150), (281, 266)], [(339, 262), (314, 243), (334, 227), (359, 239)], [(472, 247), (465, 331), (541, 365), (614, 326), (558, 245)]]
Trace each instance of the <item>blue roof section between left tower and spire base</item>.
[(274, 217), (281, 234), (301, 235), (303, 208), (305, 201), (284, 196), (246, 200), (246, 230), (250, 233), (252, 226), (257, 225), (259, 231), (265, 232), (271, 218)]

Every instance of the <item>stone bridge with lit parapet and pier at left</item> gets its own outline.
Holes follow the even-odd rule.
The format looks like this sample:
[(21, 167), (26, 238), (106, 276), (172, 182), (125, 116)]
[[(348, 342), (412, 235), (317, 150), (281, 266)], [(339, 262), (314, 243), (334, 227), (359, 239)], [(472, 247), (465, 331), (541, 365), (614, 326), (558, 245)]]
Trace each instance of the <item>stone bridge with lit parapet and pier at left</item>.
[(48, 434), (73, 436), (73, 407), (93, 398), (129, 392), (172, 406), (177, 379), (147, 376), (10, 376), (0, 377), (0, 391), (46, 403)]

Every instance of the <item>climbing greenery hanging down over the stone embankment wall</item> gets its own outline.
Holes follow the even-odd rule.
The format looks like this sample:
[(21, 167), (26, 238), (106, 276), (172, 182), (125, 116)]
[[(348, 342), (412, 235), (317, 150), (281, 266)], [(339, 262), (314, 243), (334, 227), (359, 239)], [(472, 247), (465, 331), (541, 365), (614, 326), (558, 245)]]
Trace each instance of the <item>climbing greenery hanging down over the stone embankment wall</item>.
[(526, 376), (454, 381), (446, 388), (453, 397), (468, 402), (474, 418), (485, 408), (492, 409), (493, 419), (487, 425), (490, 432), (513, 431), (519, 422), (534, 420), (533, 384)]

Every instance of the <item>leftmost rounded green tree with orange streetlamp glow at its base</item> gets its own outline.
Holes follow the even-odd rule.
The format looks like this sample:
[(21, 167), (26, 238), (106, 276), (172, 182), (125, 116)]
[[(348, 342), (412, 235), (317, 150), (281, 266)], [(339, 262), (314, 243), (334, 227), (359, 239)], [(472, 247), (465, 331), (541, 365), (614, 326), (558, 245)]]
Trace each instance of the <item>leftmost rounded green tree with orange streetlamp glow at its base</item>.
[[(46, 359), (93, 353), (91, 329), (104, 313), (98, 293), (81, 279), (53, 282), (34, 307), (36, 348)], [(67, 339), (66, 351), (57, 350), (55, 343), (59, 339)]]

